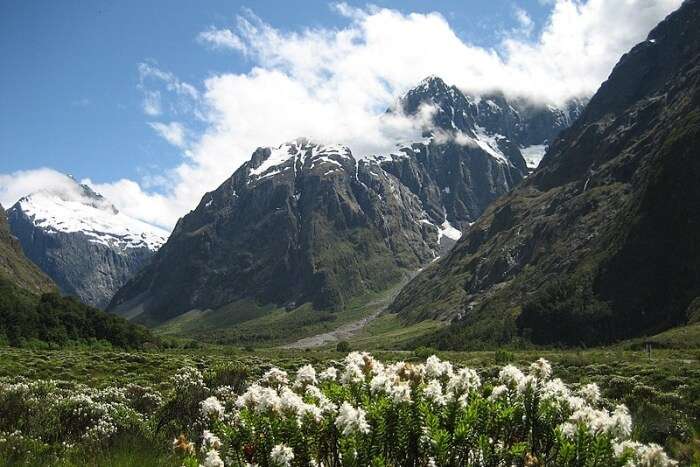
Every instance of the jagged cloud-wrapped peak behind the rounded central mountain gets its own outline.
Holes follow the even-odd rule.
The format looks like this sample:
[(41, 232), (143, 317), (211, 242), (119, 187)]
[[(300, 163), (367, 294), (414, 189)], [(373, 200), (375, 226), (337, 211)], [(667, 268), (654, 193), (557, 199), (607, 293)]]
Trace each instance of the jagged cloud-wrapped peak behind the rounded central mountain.
[(568, 127), (582, 105), (572, 100), (559, 109), (500, 94), (469, 96), (431, 76), (391, 110), (430, 114), (425, 139), (374, 160), (418, 196), (446, 239), (445, 252), (529, 172), (523, 155), (538, 162), (548, 139)]

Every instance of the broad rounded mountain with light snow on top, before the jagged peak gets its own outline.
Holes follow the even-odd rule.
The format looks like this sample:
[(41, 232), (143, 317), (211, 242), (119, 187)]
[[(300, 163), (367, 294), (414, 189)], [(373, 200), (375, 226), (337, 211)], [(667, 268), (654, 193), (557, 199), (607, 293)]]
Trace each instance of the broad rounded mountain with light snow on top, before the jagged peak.
[(182, 218), (111, 309), (161, 322), (241, 298), (340, 309), (431, 260), (420, 201), (342, 146), (260, 148)]

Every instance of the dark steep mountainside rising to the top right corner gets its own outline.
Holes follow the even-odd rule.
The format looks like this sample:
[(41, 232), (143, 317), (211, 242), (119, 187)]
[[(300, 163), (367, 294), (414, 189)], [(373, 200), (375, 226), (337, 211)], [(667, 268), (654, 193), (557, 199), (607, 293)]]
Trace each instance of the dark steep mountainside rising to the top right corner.
[(700, 309), (700, 1), (625, 54), (538, 169), (391, 305), (428, 340), (593, 345)]

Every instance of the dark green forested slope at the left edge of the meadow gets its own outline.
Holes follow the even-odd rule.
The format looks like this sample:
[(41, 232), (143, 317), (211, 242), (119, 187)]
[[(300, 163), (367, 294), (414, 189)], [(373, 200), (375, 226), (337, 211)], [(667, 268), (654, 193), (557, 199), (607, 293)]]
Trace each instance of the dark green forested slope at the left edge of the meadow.
[(108, 345), (141, 348), (155, 342), (141, 326), (69, 297), (41, 297), (0, 279), (0, 345), (61, 347)]

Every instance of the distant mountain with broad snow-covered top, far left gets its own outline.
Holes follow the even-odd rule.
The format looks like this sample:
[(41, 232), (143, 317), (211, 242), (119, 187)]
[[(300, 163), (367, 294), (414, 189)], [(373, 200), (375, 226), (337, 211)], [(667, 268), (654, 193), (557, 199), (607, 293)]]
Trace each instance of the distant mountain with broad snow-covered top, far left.
[(69, 177), (64, 187), (20, 199), (8, 218), (24, 253), (61, 291), (100, 308), (167, 236)]

